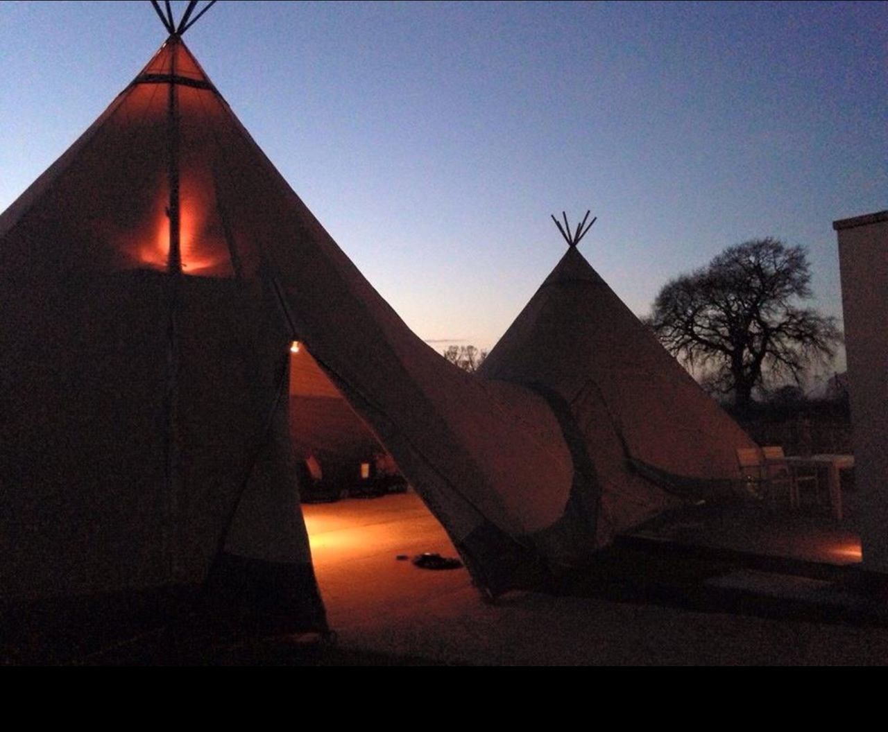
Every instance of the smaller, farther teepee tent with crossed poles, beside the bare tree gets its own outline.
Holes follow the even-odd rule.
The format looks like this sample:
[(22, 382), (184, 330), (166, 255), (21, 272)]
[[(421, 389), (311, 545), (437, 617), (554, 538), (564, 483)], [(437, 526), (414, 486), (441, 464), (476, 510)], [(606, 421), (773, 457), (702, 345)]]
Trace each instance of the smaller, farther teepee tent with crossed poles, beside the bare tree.
[(678, 496), (730, 491), (736, 449), (754, 443), (580, 254), (583, 224), (562, 230), (567, 252), (479, 373), (569, 413), (596, 476), (600, 545)]

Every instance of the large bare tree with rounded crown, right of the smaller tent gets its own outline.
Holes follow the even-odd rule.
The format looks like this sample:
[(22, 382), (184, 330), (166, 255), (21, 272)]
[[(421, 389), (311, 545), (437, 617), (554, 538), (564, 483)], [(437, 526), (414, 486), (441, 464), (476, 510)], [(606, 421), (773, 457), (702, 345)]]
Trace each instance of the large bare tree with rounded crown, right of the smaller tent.
[(758, 239), (668, 282), (650, 318), (662, 344), (746, 407), (765, 378), (800, 383), (813, 361), (835, 355), (836, 319), (799, 302), (812, 296), (805, 249)]

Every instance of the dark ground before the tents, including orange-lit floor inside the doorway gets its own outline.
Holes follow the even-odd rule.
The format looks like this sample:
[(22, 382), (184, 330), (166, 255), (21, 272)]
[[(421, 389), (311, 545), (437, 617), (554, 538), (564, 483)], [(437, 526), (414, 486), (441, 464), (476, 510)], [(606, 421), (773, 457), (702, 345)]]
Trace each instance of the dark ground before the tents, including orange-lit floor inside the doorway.
[[(305, 507), (334, 641), (211, 640), (180, 624), (91, 643), (15, 634), (7, 664), (686, 665), (888, 662), (888, 594), (856, 566), (852, 523), (698, 508), (621, 539), (556, 593), (482, 600), (415, 495)], [(7, 616), (28, 625), (34, 618)], [(155, 624), (156, 625), (156, 624)], [(99, 639), (99, 640), (97, 640)]]

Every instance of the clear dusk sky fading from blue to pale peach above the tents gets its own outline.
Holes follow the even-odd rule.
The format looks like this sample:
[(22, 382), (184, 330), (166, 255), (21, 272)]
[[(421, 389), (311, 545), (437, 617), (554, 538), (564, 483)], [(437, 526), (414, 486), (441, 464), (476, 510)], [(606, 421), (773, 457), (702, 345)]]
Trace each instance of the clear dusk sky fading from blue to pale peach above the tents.
[[(0, 209), (163, 38), (144, 0), (0, 3)], [(496, 342), (562, 209), (599, 216), (583, 254), (638, 313), (771, 235), (840, 316), (831, 222), (888, 208), (885, 3), (219, 2), (186, 43), (432, 341)]]

